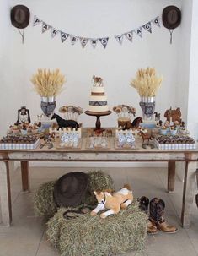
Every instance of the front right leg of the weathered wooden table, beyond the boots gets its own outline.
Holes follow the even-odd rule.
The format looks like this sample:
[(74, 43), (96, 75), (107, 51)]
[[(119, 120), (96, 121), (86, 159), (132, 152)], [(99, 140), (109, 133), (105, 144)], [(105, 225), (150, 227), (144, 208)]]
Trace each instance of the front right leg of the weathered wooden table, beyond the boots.
[(181, 210), (181, 223), (185, 228), (190, 227), (193, 198), (195, 196), (196, 162), (185, 162), (185, 181)]

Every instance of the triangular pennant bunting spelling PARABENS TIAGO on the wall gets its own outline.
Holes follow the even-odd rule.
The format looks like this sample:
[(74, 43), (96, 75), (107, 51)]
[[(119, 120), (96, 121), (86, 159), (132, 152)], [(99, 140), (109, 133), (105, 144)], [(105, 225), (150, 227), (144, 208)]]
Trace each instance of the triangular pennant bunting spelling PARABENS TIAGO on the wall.
[[(59, 34), (61, 36), (62, 43), (69, 38), (72, 46), (74, 46), (76, 42), (79, 40), (83, 48), (88, 44), (88, 41), (89, 41), (93, 48), (95, 48), (97, 46), (97, 43), (100, 42), (105, 49), (110, 38), (109, 36), (99, 37), (99, 38), (88, 38), (83, 36), (72, 35), (67, 32), (63, 32), (62, 30), (57, 30), (53, 26), (47, 24), (42, 19), (38, 18), (37, 16), (34, 16), (33, 26), (40, 25), (40, 24), (42, 25), (42, 33), (45, 33), (46, 31), (51, 30), (51, 38), (54, 38), (56, 35)], [(147, 32), (152, 33), (152, 24), (157, 25), (160, 28), (159, 16), (148, 21), (146, 24), (139, 26), (135, 30), (130, 30), (120, 35), (115, 35), (115, 39), (120, 43), (120, 45), (122, 45), (124, 37), (126, 37), (127, 40), (132, 42), (134, 33), (142, 38), (143, 30), (146, 30)]]

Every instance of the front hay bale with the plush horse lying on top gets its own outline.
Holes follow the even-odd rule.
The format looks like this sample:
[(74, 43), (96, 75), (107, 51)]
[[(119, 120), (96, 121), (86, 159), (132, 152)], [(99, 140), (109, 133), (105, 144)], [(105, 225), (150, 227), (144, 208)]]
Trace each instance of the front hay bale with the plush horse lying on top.
[(66, 220), (58, 210), (48, 221), (47, 237), (62, 256), (107, 256), (144, 248), (147, 215), (135, 201), (118, 215), (101, 219), (90, 213)]

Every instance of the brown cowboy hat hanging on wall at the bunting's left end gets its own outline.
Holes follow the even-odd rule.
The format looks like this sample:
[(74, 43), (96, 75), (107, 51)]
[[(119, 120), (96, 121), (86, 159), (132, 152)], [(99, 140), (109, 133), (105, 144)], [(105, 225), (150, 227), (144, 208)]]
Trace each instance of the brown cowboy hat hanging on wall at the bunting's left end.
[(18, 29), (24, 29), (29, 25), (29, 16), (29, 8), (24, 5), (16, 5), (11, 9), (12, 25)]

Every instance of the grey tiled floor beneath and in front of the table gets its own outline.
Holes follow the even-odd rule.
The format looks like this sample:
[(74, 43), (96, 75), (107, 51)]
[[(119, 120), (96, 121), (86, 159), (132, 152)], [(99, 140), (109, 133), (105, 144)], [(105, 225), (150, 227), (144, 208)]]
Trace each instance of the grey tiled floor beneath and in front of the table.
[[(178, 227), (176, 234), (161, 231), (147, 236), (147, 246), (141, 255), (147, 256), (195, 256), (198, 255), (198, 209), (194, 205), (190, 229), (180, 226), (182, 182), (176, 179), (174, 193), (167, 193), (167, 172), (165, 168), (102, 168), (110, 173), (115, 188), (129, 183), (135, 197), (146, 195), (149, 199), (161, 198), (165, 201), (166, 220)], [(45, 220), (35, 217), (32, 199), (41, 183), (51, 181), (72, 171), (89, 171), (94, 168), (46, 168), (30, 169), (31, 193), (21, 192), (19, 170), (11, 173), (13, 225), (0, 226), (0, 256), (57, 256), (54, 248), (46, 241)], [(135, 253), (127, 253), (127, 256)], [(74, 255), (81, 256), (81, 255)]]

